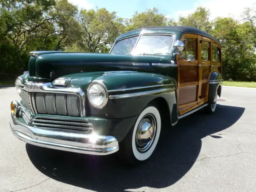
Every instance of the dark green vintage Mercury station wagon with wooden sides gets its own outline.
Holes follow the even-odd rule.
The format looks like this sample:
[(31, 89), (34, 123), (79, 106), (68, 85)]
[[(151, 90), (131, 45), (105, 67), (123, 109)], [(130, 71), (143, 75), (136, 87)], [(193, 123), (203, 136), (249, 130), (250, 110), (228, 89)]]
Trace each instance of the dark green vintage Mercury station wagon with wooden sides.
[[(161, 129), (204, 108), (222, 90), (221, 45), (187, 26), (145, 27), (116, 38), (108, 54), (30, 52), (16, 79), (10, 127), (24, 142), (147, 160)], [(167, 126), (168, 127), (168, 126)]]

